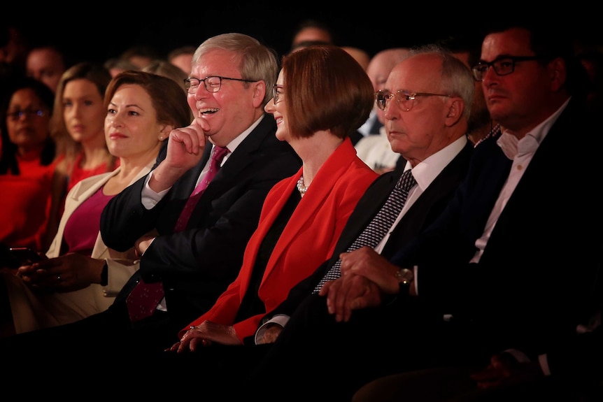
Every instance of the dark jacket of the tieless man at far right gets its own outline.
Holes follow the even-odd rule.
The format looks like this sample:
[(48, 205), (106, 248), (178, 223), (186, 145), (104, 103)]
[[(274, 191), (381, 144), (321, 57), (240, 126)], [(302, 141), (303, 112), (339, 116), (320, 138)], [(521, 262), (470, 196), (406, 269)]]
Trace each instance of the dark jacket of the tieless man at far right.
[[(478, 145), (439, 220), (391, 259), (418, 265), (419, 300), (452, 314), (483, 357), (553, 349), (575, 336), (588, 305), (603, 243), (602, 141), (582, 110), (570, 101), (548, 131), (478, 264), (467, 263), (512, 164), (496, 137)], [(579, 134), (586, 138), (578, 145)]]

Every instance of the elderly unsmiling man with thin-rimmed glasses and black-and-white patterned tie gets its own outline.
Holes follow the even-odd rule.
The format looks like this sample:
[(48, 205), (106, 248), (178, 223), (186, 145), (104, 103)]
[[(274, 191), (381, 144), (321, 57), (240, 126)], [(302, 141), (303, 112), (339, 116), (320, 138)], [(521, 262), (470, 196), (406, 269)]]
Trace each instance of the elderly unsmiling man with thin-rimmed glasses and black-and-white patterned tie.
[[(340, 278), (342, 256), (369, 249), (392, 257), (446, 208), (467, 173), (473, 153), (466, 136), (473, 96), (474, 78), (467, 66), (438, 46), (413, 49), (392, 69), (385, 89), (376, 92), (375, 100), (385, 113), (392, 150), (399, 152), (406, 166), (375, 180), (350, 215), (332, 257), (264, 317), (255, 343), (274, 344), (251, 375), (250, 384), (270, 378), (271, 395), (274, 392), (285, 400), (309, 401), (313, 396), (350, 400), (351, 391), (362, 383), (359, 378), (366, 378), (365, 371), (371, 370), (356, 363), (365, 358), (365, 352), (371, 353), (370, 347), (365, 350), (369, 345), (362, 342), (350, 345), (349, 340), (357, 338), (346, 330), (331, 332), (329, 322), (348, 317), (339, 312), (336, 317), (329, 315), (322, 294), (339, 279), (345, 282)], [(413, 285), (411, 270), (394, 271), (392, 278), (396, 289)], [(314, 359), (318, 364), (311, 364)], [(304, 363), (311, 364), (310, 371), (294, 376), (283, 370)]]

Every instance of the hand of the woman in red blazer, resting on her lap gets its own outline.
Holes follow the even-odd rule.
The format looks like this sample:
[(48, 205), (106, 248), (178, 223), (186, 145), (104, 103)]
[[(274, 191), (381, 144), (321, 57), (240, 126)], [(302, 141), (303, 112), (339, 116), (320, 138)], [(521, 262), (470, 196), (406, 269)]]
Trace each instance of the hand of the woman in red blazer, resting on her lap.
[(187, 350), (194, 352), (197, 347), (209, 346), (214, 342), (222, 345), (241, 345), (241, 340), (236, 336), (234, 326), (204, 321), (186, 331), (180, 338), (180, 342), (171, 345), (166, 349), (166, 352), (181, 353)]

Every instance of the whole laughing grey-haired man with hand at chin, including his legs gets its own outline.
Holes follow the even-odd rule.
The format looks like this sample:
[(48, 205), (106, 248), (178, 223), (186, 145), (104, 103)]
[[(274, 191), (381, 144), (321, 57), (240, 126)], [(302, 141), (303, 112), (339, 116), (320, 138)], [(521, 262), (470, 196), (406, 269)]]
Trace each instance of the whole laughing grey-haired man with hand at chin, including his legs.
[[(187, 80), (194, 120), (169, 133), (151, 173), (101, 215), (104, 242), (115, 250), (136, 247), (139, 270), (108, 310), (14, 336), (3, 357), (19, 351), (71, 361), (86, 345), (102, 357), (128, 339), (156, 349), (213, 306), (239, 273), (269, 190), (301, 167), (264, 112), (277, 76), (276, 53), (251, 36), (221, 34), (199, 45)], [(67, 369), (77, 375), (76, 366)]]

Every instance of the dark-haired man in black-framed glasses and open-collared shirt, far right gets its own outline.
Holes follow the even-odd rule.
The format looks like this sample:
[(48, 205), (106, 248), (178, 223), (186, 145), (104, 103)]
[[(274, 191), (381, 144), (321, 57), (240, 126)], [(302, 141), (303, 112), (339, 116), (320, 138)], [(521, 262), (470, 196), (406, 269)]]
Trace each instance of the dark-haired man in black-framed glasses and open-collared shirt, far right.
[[(322, 356), (329, 387), (402, 373), (367, 385), (355, 402), (461, 401), (453, 397), (463, 392), (481, 401), (488, 388), (484, 401), (509, 400), (496, 399), (504, 387), (537, 383), (544, 388), (519, 387), (518, 399), (577, 400), (585, 380), (600, 383), (600, 359), (589, 364), (588, 353), (568, 354), (567, 346), (593, 330), (589, 313), (600, 307), (601, 130), (586, 111), (571, 36), (537, 24), (511, 22), (483, 39), (473, 71), (503, 129), (476, 146), (448, 208), (390, 259), (368, 248), (343, 254), (341, 278), (321, 291), (332, 319), (306, 308), (296, 320), (303, 325), (295, 334), (285, 326), (273, 346), (278, 359), (302, 360), (320, 348), (316, 333), (328, 333), (337, 346)], [(412, 101), (387, 98), (387, 108), (394, 98), (402, 108)], [(401, 287), (405, 271), (415, 280)], [(338, 362), (352, 350), (348, 369), (351, 359)], [(404, 375), (439, 366), (454, 369)]]

